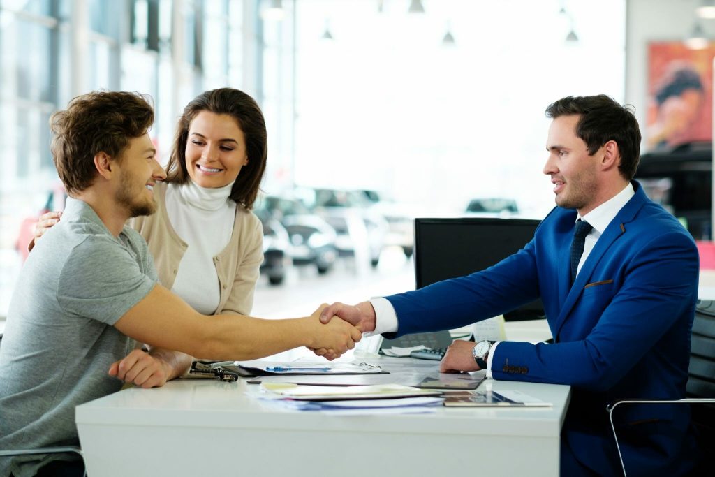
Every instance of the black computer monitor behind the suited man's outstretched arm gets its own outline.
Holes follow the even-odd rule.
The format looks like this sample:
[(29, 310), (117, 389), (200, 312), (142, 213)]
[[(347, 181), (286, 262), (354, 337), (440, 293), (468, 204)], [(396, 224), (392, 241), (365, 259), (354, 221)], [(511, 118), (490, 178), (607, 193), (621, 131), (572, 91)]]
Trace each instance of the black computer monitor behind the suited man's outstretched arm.
[[(415, 219), (415, 281), (418, 288), (484, 270), (518, 252), (539, 220), (492, 217)], [(504, 314), (507, 321), (545, 318), (541, 300)]]

